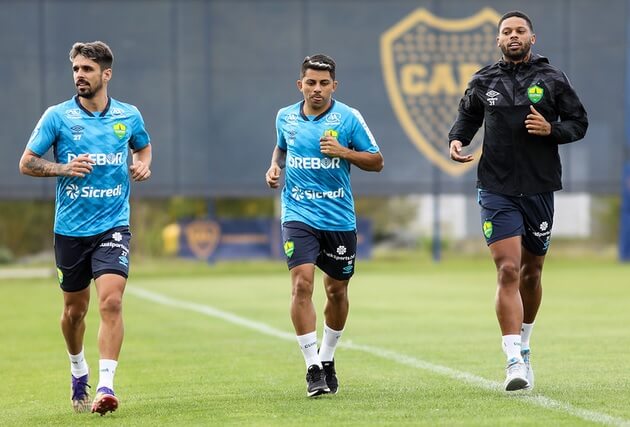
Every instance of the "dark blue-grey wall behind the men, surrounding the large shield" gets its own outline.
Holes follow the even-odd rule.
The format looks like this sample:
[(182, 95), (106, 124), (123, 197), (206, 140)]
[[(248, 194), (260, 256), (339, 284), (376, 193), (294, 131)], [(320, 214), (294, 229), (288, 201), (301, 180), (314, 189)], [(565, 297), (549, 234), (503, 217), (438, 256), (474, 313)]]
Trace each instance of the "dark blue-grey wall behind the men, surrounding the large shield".
[(300, 99), (299, 65), (316, 52), (337, 60), (337, 98), (362, 112), (385, 155), (381, 174), (353, 172), (359, 194), (429, 192), (434, 177), (445, 192), (471, 192), (474, 168), (432, 173), (385, 87), (381, 38), (420, 8), (446, 20), (527, 12), (535, 52), (568, 74), (589, 113), (586, 139), (561, 148), (565, 188), (619, 193), (626, 0), (2, 0), (0, 198), (54, 196), (54, 180), (20, 176), (17, 162), (45, 108), (74, 94), (67, 57), (78, 40), (110, 44), (110, 95), (138, 106), (152, 135), (154, 174), (135, 195), (270, 194), (275, 115)]

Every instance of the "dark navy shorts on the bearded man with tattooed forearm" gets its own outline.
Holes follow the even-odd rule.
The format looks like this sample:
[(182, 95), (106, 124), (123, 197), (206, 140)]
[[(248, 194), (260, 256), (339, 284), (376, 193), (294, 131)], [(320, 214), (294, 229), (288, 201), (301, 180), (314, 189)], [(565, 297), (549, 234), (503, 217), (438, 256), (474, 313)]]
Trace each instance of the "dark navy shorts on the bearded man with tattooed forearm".
[(114, 227), (87, 237), (55, 234), (55, 260), (59, 286), (66, 292), (78, 292), (94, 278), (106, 273), (129, 276), (128, 226)]

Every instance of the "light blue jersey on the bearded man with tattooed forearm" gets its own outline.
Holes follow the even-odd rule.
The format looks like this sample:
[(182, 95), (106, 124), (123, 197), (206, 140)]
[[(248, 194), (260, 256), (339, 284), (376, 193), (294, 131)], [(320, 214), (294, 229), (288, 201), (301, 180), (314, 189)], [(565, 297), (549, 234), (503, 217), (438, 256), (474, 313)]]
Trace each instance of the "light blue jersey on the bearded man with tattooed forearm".
[(27, 147), (43, 156), (52, 147), (57, 163), (80, 154), (94, 160), (84, 178), (57, 177), (55, 233), (93, 236), (129, 225), (129, 148), (150, 142), (136, 107), (109, 98), (101, 113), (84, 109), (77, 97), (46, 110)]

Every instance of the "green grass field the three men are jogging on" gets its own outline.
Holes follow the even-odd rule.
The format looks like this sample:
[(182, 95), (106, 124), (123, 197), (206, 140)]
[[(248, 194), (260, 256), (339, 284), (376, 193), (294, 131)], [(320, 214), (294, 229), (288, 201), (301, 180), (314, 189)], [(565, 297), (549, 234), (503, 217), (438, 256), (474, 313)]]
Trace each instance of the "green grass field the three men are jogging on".
[(550, 257), (530, 393), (500, 390), (494, 282), (486, 258), (360, 262), (339, 394), (308, 399), (282, 263), (136, 265), (121, 406), (99, 417), (71, 411), (54, 279), (0, 279), (0, 425), (630, 425), (630, 265)]

